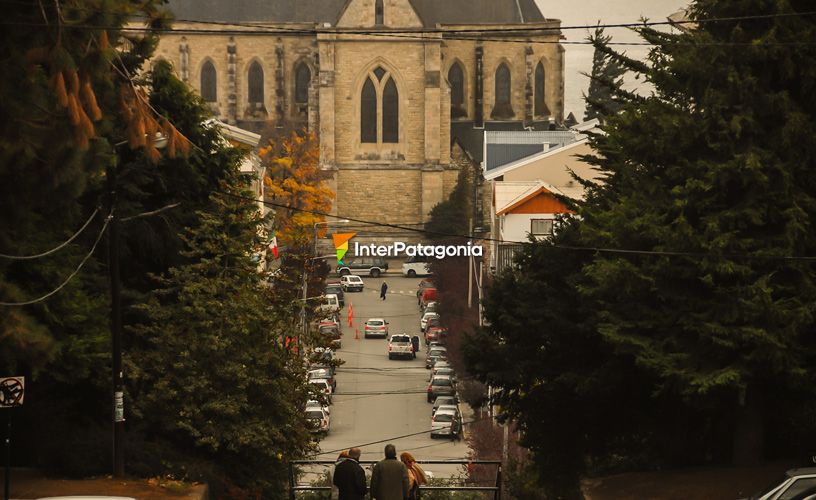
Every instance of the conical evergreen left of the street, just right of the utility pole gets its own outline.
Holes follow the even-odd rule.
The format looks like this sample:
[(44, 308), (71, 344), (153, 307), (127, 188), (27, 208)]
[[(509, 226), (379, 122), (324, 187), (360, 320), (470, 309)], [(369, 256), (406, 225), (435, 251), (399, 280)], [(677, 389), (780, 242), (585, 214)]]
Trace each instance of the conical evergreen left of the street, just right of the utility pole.
[[(222, 190), (248, 195), (236, 187)], [(262, 246), (256, 210), (251, 201), (213, 195), (199, 225), (185, 231), (189, 262), (158, 278), (144, 306), (150, 321), (136, 329), (131, 397), (143, 432), (174, 443), (181, 455), (165, 467), (189, 475), (204, 459), (214, 471), (203, 479), (217, 495), (231, 486), (279, 498), (285, 460), (308, 446), (300, 411), (307, 392), (251, 259)]]

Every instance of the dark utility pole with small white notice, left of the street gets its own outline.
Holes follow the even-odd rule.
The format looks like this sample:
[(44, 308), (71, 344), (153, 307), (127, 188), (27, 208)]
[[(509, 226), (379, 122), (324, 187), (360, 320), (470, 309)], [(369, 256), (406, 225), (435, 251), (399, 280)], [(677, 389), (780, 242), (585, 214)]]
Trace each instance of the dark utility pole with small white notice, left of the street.
[(108, 272), (111, 294), (111, 376), (113, 383), (113, 475), (125, 475), (125, 384), (122, 373), (122, 278), (119, 267), (119, 219), (116, 214), (116, 159), (108, 165)]

